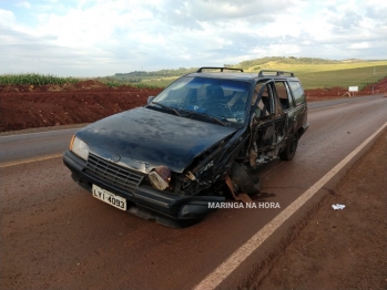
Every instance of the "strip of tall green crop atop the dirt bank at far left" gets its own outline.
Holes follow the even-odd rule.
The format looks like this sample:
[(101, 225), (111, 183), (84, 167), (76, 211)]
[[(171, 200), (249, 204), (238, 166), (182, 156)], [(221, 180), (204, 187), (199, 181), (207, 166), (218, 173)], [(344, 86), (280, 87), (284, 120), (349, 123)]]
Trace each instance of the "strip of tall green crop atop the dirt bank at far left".
[(27, 84), (27, 85), (44, 85), (44, 84), (64, 84), (80, 82), (77, 77), (59, 77), (51, 74), (23, 73), (23, 74), (1, 74), (0, 84)]

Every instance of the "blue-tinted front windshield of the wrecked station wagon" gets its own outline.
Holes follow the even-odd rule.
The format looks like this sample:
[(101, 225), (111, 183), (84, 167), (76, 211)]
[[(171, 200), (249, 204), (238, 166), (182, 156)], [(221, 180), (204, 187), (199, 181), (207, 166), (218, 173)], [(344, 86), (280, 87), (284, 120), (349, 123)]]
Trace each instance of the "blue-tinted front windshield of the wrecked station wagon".
[(225, 124), (243, 124), (249, 87), (249, 83), (242, 81), (184, 76), (152, 103), (177, 110), (182, 116), (210, 116), (208, 120)]

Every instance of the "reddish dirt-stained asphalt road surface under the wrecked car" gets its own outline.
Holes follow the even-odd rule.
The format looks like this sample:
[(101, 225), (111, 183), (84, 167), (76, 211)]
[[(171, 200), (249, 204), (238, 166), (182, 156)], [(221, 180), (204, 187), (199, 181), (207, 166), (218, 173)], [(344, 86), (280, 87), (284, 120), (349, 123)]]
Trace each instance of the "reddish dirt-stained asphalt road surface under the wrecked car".
[(379, 128), (387, 99), (309, 103), (308, 121), (295, 158), (257, 172), (281, 208), (220, 209), (185, 229), (96, 200), (61, 157), (23, 162), (61, 154), (75, 130), (0, 137), (0, 288), (192, 289)]

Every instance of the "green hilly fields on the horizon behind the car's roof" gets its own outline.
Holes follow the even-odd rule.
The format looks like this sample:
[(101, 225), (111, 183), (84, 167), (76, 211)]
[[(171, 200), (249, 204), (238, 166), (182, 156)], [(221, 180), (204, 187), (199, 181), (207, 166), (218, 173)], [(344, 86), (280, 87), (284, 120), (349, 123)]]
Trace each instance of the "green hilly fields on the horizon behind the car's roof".
[[(241, 68), (245, 72), (257, 73), (261, 70), (292, 71), (303, 83), (304, 89), (327, 89), (358, 86), (359, 90), (368, 84), (377, 83), (387, 76), (387, 61), (363, 60), (324, 60), (316, 58), (271, 56), (238, 64), (224, 64), (227, 68)], [(109, 76), (118, 82), (130, 82), (144, 85), (165, 87), (179, 76), (194, 72), (197, 68), (177, 70), (161, 70), (153, 72), (134, 71), (116, 73)]]

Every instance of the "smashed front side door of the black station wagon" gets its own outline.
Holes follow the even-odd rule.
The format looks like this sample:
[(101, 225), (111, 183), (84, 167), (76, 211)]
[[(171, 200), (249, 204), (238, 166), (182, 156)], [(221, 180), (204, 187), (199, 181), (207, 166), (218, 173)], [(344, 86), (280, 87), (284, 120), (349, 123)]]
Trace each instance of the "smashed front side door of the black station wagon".
[(287, 116), (275, 94), (274, 81), (257, 83), (254, 94), (249, 147), (252, 167), (276, 158), (287, 132)]

